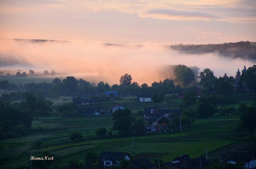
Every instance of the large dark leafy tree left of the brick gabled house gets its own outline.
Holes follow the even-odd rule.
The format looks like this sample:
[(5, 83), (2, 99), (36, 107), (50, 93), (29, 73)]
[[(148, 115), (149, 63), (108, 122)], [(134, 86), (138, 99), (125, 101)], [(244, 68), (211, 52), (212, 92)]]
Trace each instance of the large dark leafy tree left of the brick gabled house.
[(113, 113), (112, 119), (114, 120), (113, 130), (119, 131), (120, 135), (125, 135), (132, 129), (132, 122), (135, 120), (132, 117), (130, 109), (118, 109)]

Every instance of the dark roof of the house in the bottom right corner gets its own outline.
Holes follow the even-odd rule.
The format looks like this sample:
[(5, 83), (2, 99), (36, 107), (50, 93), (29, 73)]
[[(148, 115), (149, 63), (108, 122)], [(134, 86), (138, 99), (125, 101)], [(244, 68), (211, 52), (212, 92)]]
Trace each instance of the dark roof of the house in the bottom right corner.
[(227, 151), (221, 156), (221, 161), (240, 161), (249, 162), (253, 158), (251, 152), (246, 151)]

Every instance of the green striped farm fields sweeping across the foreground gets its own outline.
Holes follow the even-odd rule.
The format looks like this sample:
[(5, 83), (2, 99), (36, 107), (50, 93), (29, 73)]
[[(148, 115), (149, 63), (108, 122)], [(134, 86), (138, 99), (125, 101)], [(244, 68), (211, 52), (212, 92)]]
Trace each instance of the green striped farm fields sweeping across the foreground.
[[(237, 142), (239, 135), (233, 130), (237, 122), (236, 116), (223, 116), (217, 119), (197, 120), (182, 131), (135, 136), (133, 153), (132, 136), (95, 137), (96, 128), (111, 128), (112, 116), (39, 118), (33, 121), (35, 131), (31, 131), (29, 135), (0, 141), (0, 165), (4, 168), (27, 166), (30, 153), (39, 155), (44, 151), (61, 156), (63, 163), (71, 159), (83, 162), (87, 151), (95, 151), (97, 154), (101, 151), (125, 151), (135, 157), (142, 157), (147, 153), (148, 159), (160, 157), (165, 162), (184, 153), (198, 157), (204, 155), (205, 148), (210, 152)], [(39, 126), (44, 130), (37, 129)], [(83, 134), (82, 141), (69, 140), (68, 136), (75, 131)], [(35, 142), (39, 140), (42, 145), (36, 147)], [(12, 163), (14, 159), (15, 165)]]

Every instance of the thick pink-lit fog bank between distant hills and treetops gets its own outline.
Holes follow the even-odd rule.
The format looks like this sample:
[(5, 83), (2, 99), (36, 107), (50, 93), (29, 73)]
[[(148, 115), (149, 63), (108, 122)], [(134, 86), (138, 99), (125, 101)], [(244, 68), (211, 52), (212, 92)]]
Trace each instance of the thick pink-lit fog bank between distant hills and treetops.
[[(121, 75), (132, 75), (139, 84), (172, 78), (166, 65), (184, 64), (198, 72), (205, 68), (214, 74), (235, 76), (250, 61), (219, 57), (217, 53), (181, 54), (160, 45), (105, 45), (83, 42), (39, 42), (0, 39), (0, 70), (29, 69), (43, 74), (55, 69), (57, 77), (75, 76), (91, 82), (119, 83)], [(193, 67), (194, 66), (194, 67)]]

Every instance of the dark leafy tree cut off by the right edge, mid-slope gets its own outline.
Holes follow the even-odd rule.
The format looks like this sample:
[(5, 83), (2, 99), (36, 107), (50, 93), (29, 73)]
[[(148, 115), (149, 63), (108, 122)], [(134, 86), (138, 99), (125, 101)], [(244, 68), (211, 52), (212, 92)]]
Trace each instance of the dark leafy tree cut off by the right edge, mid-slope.
[(254, 128), (256, 128), (256, 107), (247, 107), (247, 111), (242, 112), (240, 119), (244, 127), (249, 129), (250, 135), (252, 137)]

